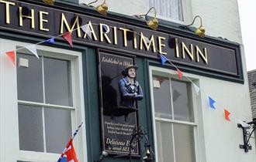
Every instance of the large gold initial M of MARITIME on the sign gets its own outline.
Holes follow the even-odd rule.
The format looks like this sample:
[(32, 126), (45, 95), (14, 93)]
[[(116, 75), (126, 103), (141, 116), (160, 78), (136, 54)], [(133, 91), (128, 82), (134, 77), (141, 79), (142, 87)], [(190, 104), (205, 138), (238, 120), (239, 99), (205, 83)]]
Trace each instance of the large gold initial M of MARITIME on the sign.
[(70, 27), (67, 23), (67, 19), (66, 19), (64, 13), (61, 13), (61, 34), (64, 33), (64, 25), (66, 26), (68, 32), (72, 32), (74, 30), (74, 26), (76, 25), (78, 37), (81, 37), (81, 29), (80, 29), (81, 26), (80, 26), (80, 23), (79, 23), (78, 15), (77, 15), (76, 19), (74, 20), (74, 23), (73, 23), (72, 27)]

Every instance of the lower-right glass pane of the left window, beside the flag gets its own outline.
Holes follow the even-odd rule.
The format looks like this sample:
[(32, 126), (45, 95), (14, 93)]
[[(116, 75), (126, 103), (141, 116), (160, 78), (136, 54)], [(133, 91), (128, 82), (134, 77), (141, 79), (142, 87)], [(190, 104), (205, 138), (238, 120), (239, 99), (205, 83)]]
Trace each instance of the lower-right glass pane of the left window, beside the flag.
[(72, 136), (71, 110), (44, 108), (47, 152), (60, 154)]

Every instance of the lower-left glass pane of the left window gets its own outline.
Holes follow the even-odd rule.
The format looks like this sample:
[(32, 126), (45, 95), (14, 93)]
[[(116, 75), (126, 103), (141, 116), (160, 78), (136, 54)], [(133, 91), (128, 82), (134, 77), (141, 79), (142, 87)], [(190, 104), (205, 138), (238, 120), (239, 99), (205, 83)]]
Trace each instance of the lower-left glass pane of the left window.
[(38, 106), (19, 104), (19, 149), (43, 152), (43, 118)]

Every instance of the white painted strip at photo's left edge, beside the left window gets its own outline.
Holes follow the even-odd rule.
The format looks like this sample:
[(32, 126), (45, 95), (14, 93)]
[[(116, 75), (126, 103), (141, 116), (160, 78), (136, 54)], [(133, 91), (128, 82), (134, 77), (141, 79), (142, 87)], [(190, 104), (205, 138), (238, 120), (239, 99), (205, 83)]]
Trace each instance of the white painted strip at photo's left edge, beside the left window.
[(15, 49), (11, 41), (1, 39), (0, 44), (0, 71), (1, 71), (1, 103), (0, 120), (1, 133), (1, 161), (16, 162), (19, 157), (19, 128), (17, 105), (16, 67), (13, 66), (5, 52)]

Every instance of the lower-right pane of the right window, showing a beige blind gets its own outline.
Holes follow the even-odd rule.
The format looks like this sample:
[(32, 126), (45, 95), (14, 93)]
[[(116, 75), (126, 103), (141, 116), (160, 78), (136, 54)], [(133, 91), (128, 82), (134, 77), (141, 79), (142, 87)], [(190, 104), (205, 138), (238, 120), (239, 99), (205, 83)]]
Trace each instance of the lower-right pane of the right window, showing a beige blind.
[(176, 162), (195, 162), (193, 127), (174, 123)]

